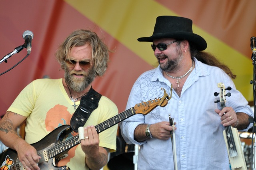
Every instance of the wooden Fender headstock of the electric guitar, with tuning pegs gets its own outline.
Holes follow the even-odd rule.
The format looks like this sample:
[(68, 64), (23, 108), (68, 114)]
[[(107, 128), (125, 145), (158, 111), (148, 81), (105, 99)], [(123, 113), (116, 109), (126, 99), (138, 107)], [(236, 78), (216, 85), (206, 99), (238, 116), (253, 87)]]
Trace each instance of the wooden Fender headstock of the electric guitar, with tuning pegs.
[(157, 106), (165, 107), (168, 104), (168, 101), (172, 98), (172, 87), (170, 91), (170, 96), (168, 96), (164, 88), (161, 88), (161, 90), (164, 91), (163, 97), (150, 99), (149, 101), (136, 104), (134, 106), (135, 113), (136, 114), (141, 113), (143, 115), (146, 115), (150, 113), (150, 111), (152, 111)]

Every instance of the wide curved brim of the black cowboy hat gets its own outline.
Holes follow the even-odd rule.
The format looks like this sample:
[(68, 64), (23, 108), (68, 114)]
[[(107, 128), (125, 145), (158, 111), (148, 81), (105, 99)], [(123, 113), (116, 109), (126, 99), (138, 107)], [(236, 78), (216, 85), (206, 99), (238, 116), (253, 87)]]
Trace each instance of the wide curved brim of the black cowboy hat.
[(188, 40), (189, 42), (194, 43), (196, 48), (199, 51), (205, 50), (207, 47), (207, 43), (201, 36), (191, 33), (191, 32), (166, 32), (154, 34), (151, 37), (142, 37), (138, 38), (139, 42), (153, 42), (153, 40), (161, 39), (161, 38), (174, 38), (179, 40)]

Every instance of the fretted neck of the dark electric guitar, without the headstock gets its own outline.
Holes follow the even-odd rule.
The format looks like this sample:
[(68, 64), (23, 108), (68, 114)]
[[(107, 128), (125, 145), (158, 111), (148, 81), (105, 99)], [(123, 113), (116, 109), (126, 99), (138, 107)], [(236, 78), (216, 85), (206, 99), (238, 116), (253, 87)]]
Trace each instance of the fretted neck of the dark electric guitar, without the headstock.
[[(136, 111), (134, 109), (134, 107), (100, 123), (99, 125), (96, 125), (96, 131), (97, 133), (100, 133), (120, 122), (122, 122), (123, 120), (127, 119), (128, 117), (131, 117), (132, 115), (136, 114)], [(54, 146), (52, 146), (51, 148), (49, 148), (47, 150), (47, 154), (48, 157), (52, 158), (76, 145), (80, 144), (80, 140), (79, 140), (79, 135), (73, 136), (67, 140), (64, 140)]]

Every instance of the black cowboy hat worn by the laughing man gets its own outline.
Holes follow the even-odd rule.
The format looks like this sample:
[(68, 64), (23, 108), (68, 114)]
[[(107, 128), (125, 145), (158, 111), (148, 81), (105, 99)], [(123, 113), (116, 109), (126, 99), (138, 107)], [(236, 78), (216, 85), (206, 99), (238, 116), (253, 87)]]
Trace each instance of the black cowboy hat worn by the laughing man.
[(207, 47), (204, 38), (193, 33), (192, 20), (178, 16), (158, 16), (153, 35), (151, 37), (138, 38), (138, 41), (153, 42), (153, 40), (160, 38), (188, 40), (194, 43), (199, 51)]

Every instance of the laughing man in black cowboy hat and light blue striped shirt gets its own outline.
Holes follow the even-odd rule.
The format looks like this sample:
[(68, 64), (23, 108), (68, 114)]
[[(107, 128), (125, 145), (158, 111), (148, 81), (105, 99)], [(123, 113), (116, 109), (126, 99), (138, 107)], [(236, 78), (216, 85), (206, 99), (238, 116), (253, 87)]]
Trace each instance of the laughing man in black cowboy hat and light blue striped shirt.
[[(248, 130), (252, 109), (232, 81), (236, 77), (216, 57), (203, 50), (207, 43), (192, 31), (192, 20), (176, 16), (159, 16), (154, 33), (139, 42), (152, 42), (158, 67), (146, 71), (136, 80), (127, 108), (141, 101), (161, 97), (161, 87), (172, 98), (166, 107), (156, 107), (148, 115), (137, 114), (121, 124), (128, 144), (139, 144), (139, 170), (216, 170), (229, 169), (224, 127)], [(227, 97), (225, 86), (232, 95)], [(215, 92), (223, 94), (214, 96)], [(229, 95), (228, 95), (229, 96)], [(214, 101), (222, 100), (221, 104)], [(176, 157), (169, 117), (176, 122)], [(233, 148), (231, 148), (233, 149)], [(174, 163), (175, 162), (175, 163)]]

